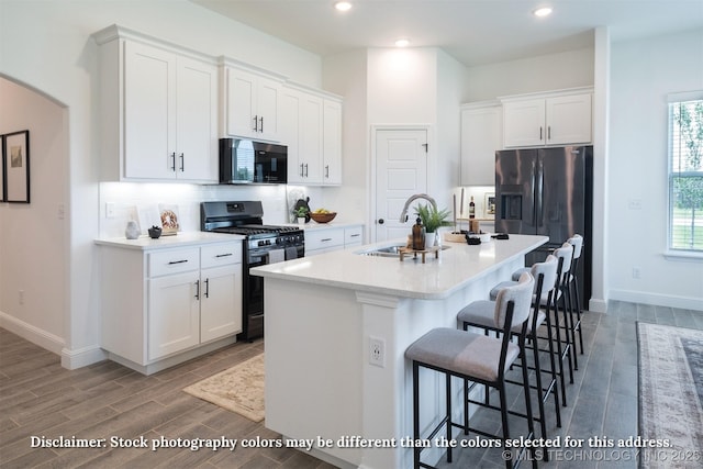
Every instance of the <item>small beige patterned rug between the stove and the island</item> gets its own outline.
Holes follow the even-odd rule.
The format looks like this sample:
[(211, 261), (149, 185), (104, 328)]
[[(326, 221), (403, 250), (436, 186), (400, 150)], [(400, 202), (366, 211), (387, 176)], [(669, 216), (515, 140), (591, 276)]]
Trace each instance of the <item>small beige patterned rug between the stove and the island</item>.
[(264, 420), (264, 354), (183, 389), (254, 422)]

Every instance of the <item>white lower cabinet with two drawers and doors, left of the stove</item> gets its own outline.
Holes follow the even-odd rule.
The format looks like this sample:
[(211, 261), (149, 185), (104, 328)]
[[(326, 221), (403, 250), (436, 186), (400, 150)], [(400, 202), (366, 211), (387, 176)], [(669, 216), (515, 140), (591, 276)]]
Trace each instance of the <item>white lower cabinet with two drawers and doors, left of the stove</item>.
[[(146, 375), (242, 332), (242, 242), (102, 247), (102, 348)], [(223, 344), (224, 345), (224, 344)]]

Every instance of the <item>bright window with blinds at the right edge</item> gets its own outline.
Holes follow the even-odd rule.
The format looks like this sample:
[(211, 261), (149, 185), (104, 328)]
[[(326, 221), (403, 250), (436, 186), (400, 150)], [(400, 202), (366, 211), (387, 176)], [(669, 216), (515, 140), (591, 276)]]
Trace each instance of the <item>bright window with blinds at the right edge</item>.
[(703, 253), (703, 91), (669, 99), (669, 249)]

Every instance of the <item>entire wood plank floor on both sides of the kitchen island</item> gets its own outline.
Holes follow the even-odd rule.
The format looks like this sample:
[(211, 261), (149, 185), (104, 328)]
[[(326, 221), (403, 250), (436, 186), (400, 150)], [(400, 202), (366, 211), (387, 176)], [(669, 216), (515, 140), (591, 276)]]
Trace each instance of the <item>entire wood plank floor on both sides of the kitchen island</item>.
[[(562, 409), (562, 427), (557, 428), (550, 417), (550, 437), (637, 435), (636, 321), (703, 330), (703, 313), (689, 310), (611, 302), (607, 314), (584, 313), (585, 354), (579, 356), (579, 370), (568, 389), (569, 405)], [(181, 391), (263, 349), (261, 340), (235, 344), (145, 377), (111, 361), (66, 370), (56, 355), (0, 328), (0, 467), (331, 468), (310, 455), (286, 448), (152, 451), (31, 447), (32, 436), (108, 438), (108, 442), (113, 436), (124, 439), (143, 436), (148, 442), (161, 436), (171, 440), (279, 438), (264, 424)], [(559, 457), (560, 460), (540, 462), (540, 467), (637, 467), (636, 459), (584, 461)], [(495, 457), (488, 451), (464, 451), (446, 467), (492, 468), (503, 467), (503, 462), (500, 454)]]

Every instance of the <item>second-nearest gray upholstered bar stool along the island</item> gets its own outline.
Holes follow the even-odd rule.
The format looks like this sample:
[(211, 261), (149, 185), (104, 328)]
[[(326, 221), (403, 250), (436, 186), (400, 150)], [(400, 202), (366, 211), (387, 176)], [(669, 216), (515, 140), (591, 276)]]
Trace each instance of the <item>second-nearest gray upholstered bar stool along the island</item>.
[[(532, 340), (533, 346), (533, 358), (534, 358), (534, 370), (535, 370), (535, 379), (536, 386), (534, 389), (537, 391), (537, 405), (539, 409), (538, 416), (534, 417), (535, 421), (539, 422), (542, 429), (542, 437), (548, 438), (547, 436), (547, 422), (545, 414), (545, 401), (549, 399), (549, 394), (554, 394), (554, 403), (555, 403), (555, 414), (557, 420), (557, 426), (561, 427), (561, 410), (559, 404), (559, 390), (557, 384), (557, 371), (556, 371), (556, 360), (554, 354), (554, 340), (551, 337), (551, 322), (549, 315), (542, 311), (539, 308), (542, 304), (542, 299), (544, 298), (545, 304), (551, 304), (551, 295), (555, 293), (555, 287), (557, 284), (557, 268), (558, 268), (558, 259), (549, 255), (544, 263), (537, 263), (532, 266), (531, 273), (537, 280), (535, 283), (535, 290), (533, 292), (532, 304), (533, 310), (529, 313), (529, 319), (527, 320), (527, 333), (526, 338)], [(495, 323), (493, 321), (493, 310), (495, 309), (495, 303), (493, 301), (482, 300), (475, 301), (459, 311), (457, 314), (457, 319), (462, 324), (464, 330), (467, 331), (469, 326), (482, 328), (487, 333), (490, 332), (499, 332), (495, 327)], [(539, 346), (538, 346), (538, 336), (537, 330), (543, 323), (547, 323), (547, 333), (548, 333), (548, 357), (550, 361), (550, 368), (543, 367), (539, 360)], [(520, 334), (520, 328), (513, 327), (512, 334)], [(527, 350), (521, 350), (522, 354), (526, 354)], [(542, 373), (548, 372), (550, 380), (549, 384), (543, 388), (542, 382)], [(522, 384), (520, 382), (506, 380), (506, 382)], [(511, 412), (513, 414), (517, 414), (521, 416), (525, 416), (523, 414)]]

